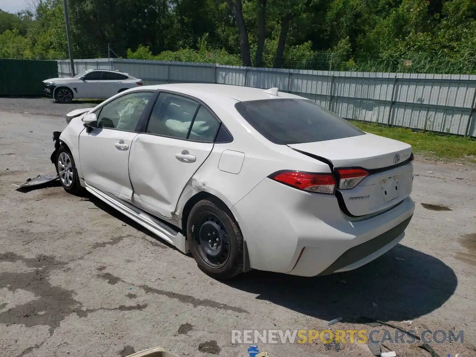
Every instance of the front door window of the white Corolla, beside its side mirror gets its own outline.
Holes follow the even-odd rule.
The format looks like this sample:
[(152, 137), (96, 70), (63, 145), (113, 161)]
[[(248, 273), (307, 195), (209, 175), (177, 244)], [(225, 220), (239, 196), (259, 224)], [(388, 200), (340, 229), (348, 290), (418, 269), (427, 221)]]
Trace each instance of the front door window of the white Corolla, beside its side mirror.
[(140, 116), (153, 92), (134, 92), (114, 99), (100, 109), (99, 128), (135, 131)]

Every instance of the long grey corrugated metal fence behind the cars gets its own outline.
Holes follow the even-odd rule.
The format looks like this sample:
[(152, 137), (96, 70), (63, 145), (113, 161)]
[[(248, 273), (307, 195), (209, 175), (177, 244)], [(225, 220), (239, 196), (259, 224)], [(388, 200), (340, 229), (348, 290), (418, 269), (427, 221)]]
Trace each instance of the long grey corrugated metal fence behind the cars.
[[(315, 101), (346, 119), (476, 136), (476, 76), (246, 68), (155, 60), (76, 60), (76, 72), (118, 69), (144, 84), (221, 83), (277, 87)], [(58, 61), (69, 76), (69, 61)], [(471, 120), (469, 121), (471, 117)]]

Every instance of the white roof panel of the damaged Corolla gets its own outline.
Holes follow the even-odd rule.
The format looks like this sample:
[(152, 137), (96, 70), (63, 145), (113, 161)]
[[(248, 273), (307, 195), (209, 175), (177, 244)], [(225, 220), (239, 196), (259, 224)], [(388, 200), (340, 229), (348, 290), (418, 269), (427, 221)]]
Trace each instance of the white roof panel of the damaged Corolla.
[(187, 94), (192, 97), (206, 100), (209, 99), (210, 94), (218, 97), (228, 97), (237, 101), (248, 101), (258, 99), (283, 99), (294, 98), (303, 99), (302, 97), (285, 92), (278, 92), (278, 96), (265, 93), (266, 89), (234, 86), (229, 84), (211, 84), (211, 83), (174, 83), (174, 84), (159, 84), (153, 86), (143, 86), (138, 89), (154, 89), (154, 90), (171, 90), (182, 94)]

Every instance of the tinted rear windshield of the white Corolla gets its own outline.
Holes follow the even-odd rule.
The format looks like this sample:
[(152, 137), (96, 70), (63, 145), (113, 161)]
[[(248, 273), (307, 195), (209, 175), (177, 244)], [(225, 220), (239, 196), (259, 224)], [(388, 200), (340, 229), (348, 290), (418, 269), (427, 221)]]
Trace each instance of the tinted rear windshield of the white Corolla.
[(261, 99), (238, 102), (235, 108), (269, 141), (298, 144), (365, 134), (331, 111), (307, 99)]

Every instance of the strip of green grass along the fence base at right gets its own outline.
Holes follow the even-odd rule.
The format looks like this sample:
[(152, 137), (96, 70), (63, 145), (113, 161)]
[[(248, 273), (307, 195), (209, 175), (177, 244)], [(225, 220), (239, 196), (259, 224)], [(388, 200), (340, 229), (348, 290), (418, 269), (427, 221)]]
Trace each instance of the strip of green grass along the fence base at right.
[(452, 159), (476, 163), (476, 140), (431, 132), (412, 131), (404, 128), (387, 128), (374, 123), (352, 121), (358, 128), (389, 139), (406, 142), (417, 155), (429, 158)]

